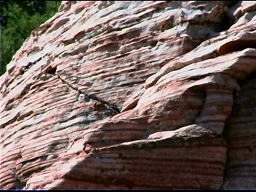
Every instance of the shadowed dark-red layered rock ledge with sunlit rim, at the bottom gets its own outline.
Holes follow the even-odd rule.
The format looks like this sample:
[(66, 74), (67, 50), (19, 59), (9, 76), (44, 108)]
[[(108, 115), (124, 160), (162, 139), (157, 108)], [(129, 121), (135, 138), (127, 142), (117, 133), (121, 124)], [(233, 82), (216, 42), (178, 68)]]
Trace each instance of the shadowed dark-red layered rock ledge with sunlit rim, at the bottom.
[[(55, 174), (54, 182), (45, 187), (218, 189), (226, 161), (225, 140), (210, 134), (207, 136), (207, 131), (199, 127), (194, 134), (195, 138), (190, 137), (189, 131), (186, 134), (186, 128), (183, 130), (185, 134), (179, 131), (176, 137), (164, 134), (163, 138), (152, 137), (149, 140), (93, 149), (83, 157), (68, 161)], [(201, 136), (199, 138), (198, 133)], [(185, 160), (184, 156), (189, 157)], [(74, 187), (67, 186), (71, 181)]]

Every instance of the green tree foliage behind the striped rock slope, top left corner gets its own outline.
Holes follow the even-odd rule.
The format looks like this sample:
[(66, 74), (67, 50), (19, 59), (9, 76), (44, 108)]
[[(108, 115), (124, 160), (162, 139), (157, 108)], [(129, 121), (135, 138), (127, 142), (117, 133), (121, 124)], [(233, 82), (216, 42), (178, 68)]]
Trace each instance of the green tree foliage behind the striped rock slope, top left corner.
[(50, 19), (60, 4), (61, 1), (0, 1), (0, 75), (31, 31)]

